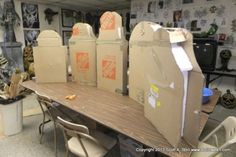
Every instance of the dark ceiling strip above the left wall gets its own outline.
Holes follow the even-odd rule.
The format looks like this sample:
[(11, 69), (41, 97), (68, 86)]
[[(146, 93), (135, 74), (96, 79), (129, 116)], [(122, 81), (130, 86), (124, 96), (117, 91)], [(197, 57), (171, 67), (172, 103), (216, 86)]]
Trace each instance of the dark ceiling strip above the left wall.
[(27, 2), (44, 3), (65, 8), (82, 10), (121, 10), (130, 9), (131, 0), (23, 0)]

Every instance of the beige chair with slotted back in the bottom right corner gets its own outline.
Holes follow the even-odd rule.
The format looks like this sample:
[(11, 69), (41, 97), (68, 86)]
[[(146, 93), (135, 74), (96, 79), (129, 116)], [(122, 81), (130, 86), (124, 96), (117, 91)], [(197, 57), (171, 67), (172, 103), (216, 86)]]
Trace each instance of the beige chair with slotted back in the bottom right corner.
[[(225, 143), (219, 145), (219, 137), (216, 133), (221, 128), (225, 129)], [(211, 137), (213, 137), (216, 146), (205, 143)], [(200, 150), (205, 149), (206, 151), (194, 152), (191, 157), (221, 157), (223, 156), (222, 152), (211, 150), (223, 150), (234, 143), (236, 143), (236, 117), (230, 116), (209, 133), (209, 135), (207, 135), (201, 142), (199, 142), (198, 148)]]

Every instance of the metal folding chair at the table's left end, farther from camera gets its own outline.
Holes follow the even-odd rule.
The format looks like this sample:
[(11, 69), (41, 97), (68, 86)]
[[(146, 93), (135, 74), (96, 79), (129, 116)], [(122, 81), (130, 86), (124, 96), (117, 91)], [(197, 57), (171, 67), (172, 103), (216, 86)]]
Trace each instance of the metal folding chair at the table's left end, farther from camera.
[(55, 156), (57, 156), (57, 132), (56, 132), (57, 116), (61, 116), (67, 119), (68, 121), (76, 121), (76, 122), (81, 122), (81, 121), (79, 118), (76, 117), (76, 115), (72, 116), (71, 114), (64, 112), (64, 110), (66, 109), (63, 108), (60, 104), (53, 102), (52, 99), (50, 99), (49, 97), (42, 95), (37, 91), (35, 93), (37, 95), (37, 100), (43, 113), (43, 121), (39, 125), (39, 133), (41, 134), (40, 144), (42, 143), (44, 135), (44, 125), (52, 121), (54, 125)]

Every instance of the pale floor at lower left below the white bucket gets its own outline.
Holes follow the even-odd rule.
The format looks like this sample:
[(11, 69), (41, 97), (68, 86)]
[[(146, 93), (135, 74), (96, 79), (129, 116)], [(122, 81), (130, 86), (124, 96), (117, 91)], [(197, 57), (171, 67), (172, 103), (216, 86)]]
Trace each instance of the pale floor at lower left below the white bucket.
[[(0, 157), (54, 157), (51, 124), (46, 126), (44, 142), (39, 144), (38, 124), (41, 121), (42, 115), (24, 117), (23, 131), (20, 134), (0, 140)], [(63, 138), (58, 143), (58, 157), (64, 157)]]

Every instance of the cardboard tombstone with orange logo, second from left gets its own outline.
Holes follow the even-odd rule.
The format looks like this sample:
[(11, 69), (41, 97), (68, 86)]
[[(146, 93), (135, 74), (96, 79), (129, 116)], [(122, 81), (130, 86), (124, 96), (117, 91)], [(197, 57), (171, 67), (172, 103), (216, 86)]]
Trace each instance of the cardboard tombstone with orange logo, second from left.
[(89, 24), (74, 25), (69, 49), (72, 80), (79, 84), (96, 86), (96, 37)]

